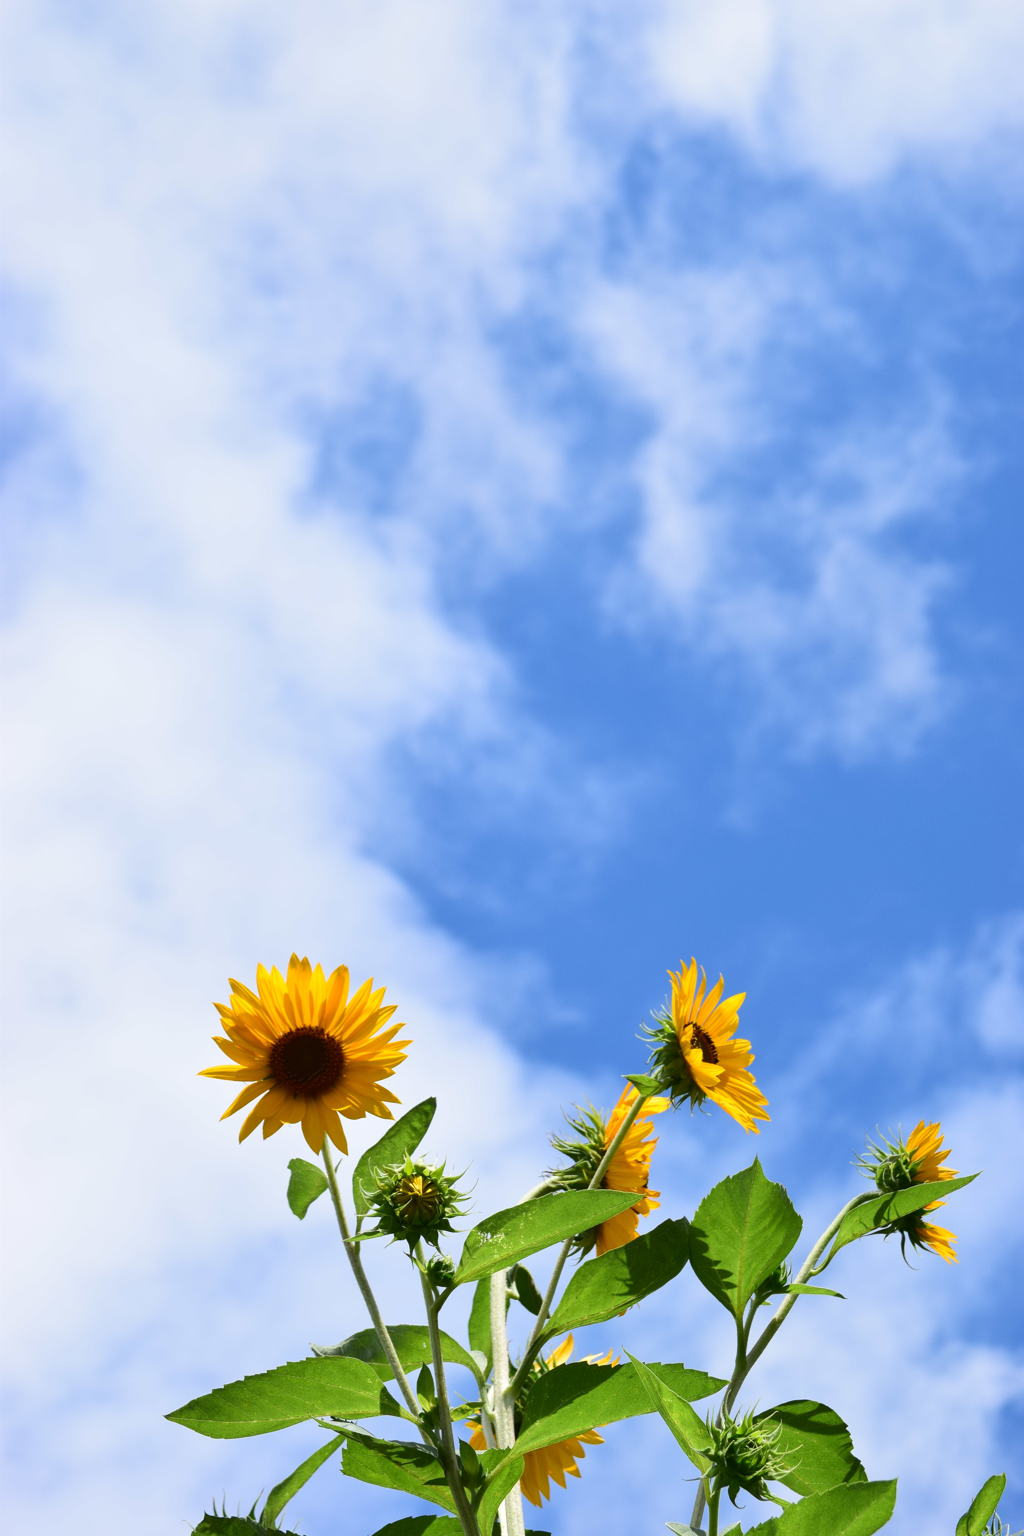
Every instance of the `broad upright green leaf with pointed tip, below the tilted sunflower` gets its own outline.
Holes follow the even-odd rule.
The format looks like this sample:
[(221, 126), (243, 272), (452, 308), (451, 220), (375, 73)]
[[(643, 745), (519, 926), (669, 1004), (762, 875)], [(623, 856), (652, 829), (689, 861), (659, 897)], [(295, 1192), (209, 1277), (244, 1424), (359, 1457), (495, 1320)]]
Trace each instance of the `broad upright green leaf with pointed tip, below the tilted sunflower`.
[(702, 1286), (738, 1318), (801, 1226), (783, 1186), (765, 1178), (754, 1158), (700, 1201), (689, 1226), (689, 1263)]

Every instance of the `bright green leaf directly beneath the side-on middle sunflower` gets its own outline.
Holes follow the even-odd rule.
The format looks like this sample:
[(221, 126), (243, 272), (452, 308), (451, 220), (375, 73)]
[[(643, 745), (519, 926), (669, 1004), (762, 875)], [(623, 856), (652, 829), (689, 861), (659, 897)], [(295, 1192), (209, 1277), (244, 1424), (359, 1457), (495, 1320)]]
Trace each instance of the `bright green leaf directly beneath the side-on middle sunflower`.
[(634, 1206), (636, 1200), (636, 1192), (580, 1189), (568, 1195), (540, 1195), (527, 1204), (499, 1210), (467, 1232), (454, 1283), (464, 1286), (468, 1279), (511, 1269), (530, 1253), (609, 1221)]

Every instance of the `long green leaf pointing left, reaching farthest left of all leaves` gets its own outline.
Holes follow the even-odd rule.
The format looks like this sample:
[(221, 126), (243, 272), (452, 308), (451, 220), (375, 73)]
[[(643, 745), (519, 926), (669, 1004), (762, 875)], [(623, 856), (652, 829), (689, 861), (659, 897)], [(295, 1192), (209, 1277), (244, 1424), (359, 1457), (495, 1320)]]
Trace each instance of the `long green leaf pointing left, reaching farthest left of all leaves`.
[(167, 1418), (197, 1435), (235, 1439), (269, 1435), (304, 1419), (333, 1415), (365, 1419), (396, 1413), (398, 1404), (375, 1370), (358, 1359), (298, 1359), (244, 1376), (193, 1398)]

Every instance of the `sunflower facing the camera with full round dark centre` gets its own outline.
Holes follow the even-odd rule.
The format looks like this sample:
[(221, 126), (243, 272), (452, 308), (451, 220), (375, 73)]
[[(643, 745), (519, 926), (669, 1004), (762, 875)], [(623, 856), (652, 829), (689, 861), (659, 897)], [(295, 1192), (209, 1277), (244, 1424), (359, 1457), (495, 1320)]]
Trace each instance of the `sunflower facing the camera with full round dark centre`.
[(210, 1066), (200, 1077), (246, 1084), (221, 1115), (224, 1120), (253, 1106), (239, 1141), (259, 1123), (264, 1137), (286, 1123), (301, 1123), (313, 1152), (322, 1149), (324, 1137), (347, 1152), (341, 1115), (393, 1118), (388, 1104), (398, 1098), (381, 1080), (405, 1060), (408, 1040), (395, 1038), (404, 1025), (382, 1028), (395, 1012), (382, 1006), (384, 988), (375, 992), (368, 980), (350, 997), (347, 966), (324, 975), (322, 966), (292, 955), (286, 977), (276, 966), (267, 971), (261, 965), (256, 992), (241, 982), (232, 982), (230, 989), (230, 1003), (213, 1005), (227, 1038), (213, 1035), (213, 1041), (236, 1064)]

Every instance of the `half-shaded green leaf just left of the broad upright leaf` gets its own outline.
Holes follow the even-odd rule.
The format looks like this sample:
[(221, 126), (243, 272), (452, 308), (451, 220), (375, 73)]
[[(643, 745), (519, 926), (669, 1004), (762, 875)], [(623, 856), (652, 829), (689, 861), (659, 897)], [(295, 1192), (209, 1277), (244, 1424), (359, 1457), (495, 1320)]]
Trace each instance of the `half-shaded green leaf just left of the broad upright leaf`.
[(545, 1338), (606, 1322), (666, 1286), (686, 1263), (688, 1223), (662, 1221), (633, 1243), (580, 1264), (559, 1301)]

